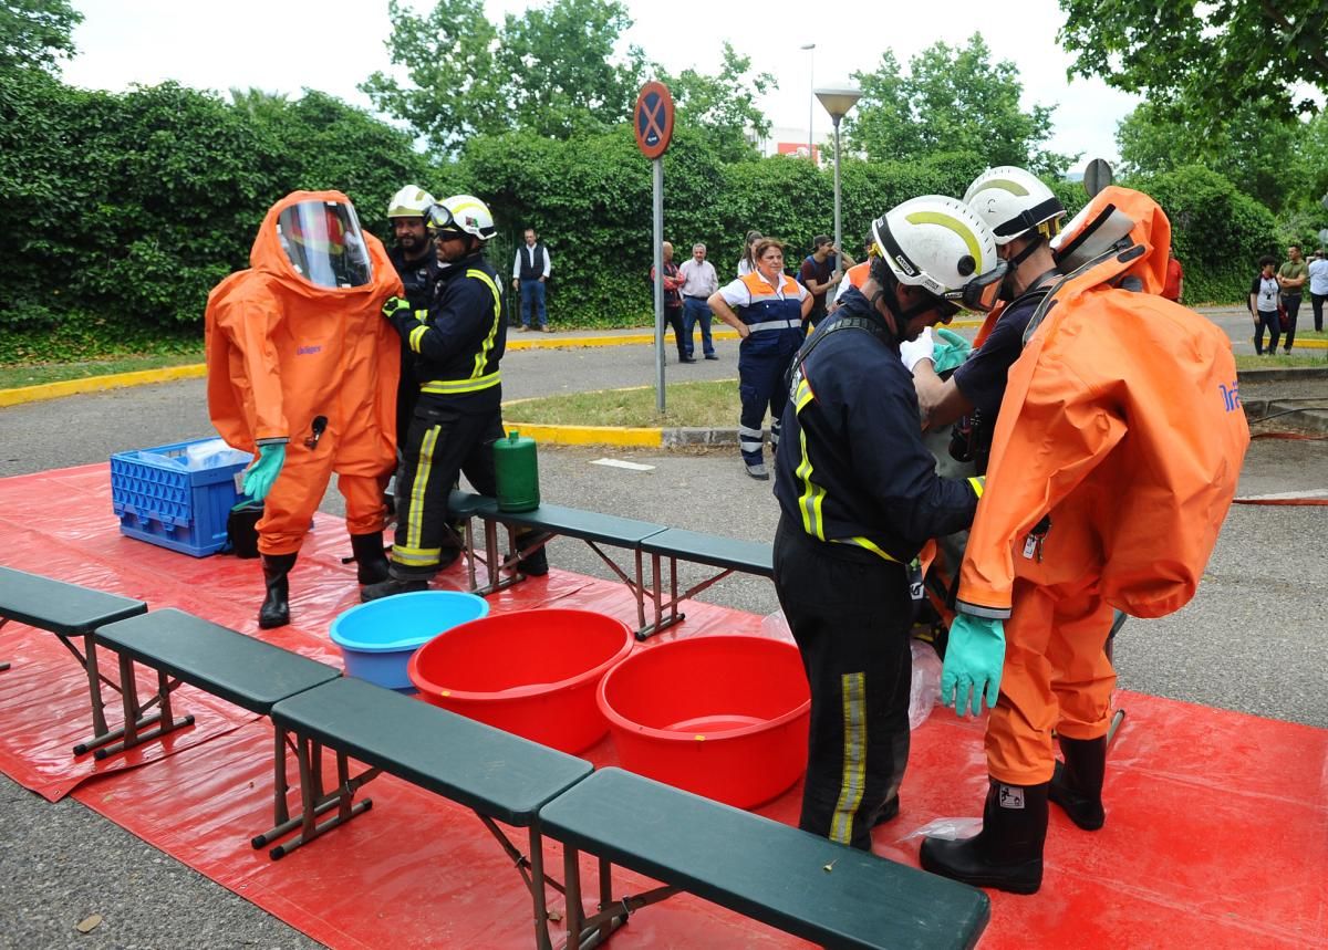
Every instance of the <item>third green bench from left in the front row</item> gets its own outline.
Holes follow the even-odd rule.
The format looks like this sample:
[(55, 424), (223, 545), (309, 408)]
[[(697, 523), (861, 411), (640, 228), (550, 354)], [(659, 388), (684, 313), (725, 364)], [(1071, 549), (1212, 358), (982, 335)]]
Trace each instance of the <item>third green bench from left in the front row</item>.
[[(513, 858), (534, 906), (537, 946), (552, 946), (546, 888), (562, 885), (544, 872), (539, 809), (591, 774), (584, 759), (559, 752), (445, 709), (376, 686), (343, 678), (284, 699), (272, 707), (279, 732), (293, 738), (300, 770), (303, 813), (292, 820), (299, 836), (268, 853), (280, 858), (363, 813), (355, 801), (367, 781), (382, 772), (471, 809)], [(324, 795), (323, 750), (336, 754), (336, 787)], [(352, 775), (351, 759), (365, 766)], [(336, 809), (324, 821), (319, 817)], [(525, 828), (529, 856), (497, 823)], [(272, 836), (254, 839), (260, 848)]]

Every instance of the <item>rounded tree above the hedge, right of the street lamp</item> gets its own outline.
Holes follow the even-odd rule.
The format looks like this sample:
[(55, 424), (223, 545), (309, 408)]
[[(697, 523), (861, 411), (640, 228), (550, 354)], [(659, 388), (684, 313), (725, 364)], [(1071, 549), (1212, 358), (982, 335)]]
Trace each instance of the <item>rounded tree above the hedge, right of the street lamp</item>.
[(891, 53), (874, 73), (854, 73), (863, 98), (845, 122), (849, 145), (872, 161), (920, 159), (936, 151), (967, 151), (988, 165), (1017, 165), (1058, 175), (1077, 158), (1044, 151), (1050, 106), (1019, 106), (1019, 69), (991, 62), (981, 34), (965, 46), (936, 42), (903, 74)]

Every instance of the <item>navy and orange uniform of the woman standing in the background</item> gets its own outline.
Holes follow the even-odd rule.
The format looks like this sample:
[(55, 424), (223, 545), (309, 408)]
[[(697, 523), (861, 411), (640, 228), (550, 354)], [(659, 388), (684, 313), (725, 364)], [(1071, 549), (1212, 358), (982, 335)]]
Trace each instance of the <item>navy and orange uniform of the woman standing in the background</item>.
[(760, 273), (741, 277), (750, 301), (733, 308), (752, 330), (738, 346), (738, 397), (742, 401), (738, 447), (749, 466), (762, 463), (761, 426), (766, 407), (770, 410), (770, 446), (780, 446), (780, 419), (788, 401), (784, 377), (803, 340), (801, 295), (806, 291), (788, 275), (781, 273), (780, 279), (784, 281), (782, 299)]

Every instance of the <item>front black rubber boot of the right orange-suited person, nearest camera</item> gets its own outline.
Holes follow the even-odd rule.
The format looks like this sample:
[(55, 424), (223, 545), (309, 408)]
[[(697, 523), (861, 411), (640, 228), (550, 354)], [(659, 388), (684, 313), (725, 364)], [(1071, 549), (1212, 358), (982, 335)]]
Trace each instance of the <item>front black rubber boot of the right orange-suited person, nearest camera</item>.
[(1049, 784), (1007, 785), (992, 779), (983, 829), (961, 841), (926, 839), (919, 854), (923, 869), (975, 888), (1036, 894), (1042, 886)]

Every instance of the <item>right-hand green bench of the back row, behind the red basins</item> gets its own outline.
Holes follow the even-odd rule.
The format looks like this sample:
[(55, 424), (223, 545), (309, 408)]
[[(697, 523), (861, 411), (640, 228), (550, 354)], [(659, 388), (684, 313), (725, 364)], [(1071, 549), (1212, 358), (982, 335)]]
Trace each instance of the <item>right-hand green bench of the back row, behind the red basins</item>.
[[(679, 602), (695, 597), (712, 584), (716, 584), (734, 571), (757, 577), (774, 577), (773, 547), (766, 541), (741, 541), (734, 537), (704, 535), (699, 531), (665, 528), (657, 535), (641, 540), (641, 552), (651, 556), (651, 604), (655, 606), (655, 620), (636, 630), (637, 640), (665, 630), (687, 618), (679, 613)], [(681, 594), (677, 590), (677, 563), (704, 564), (718, 568), (717, 575), (701, 580)], [(663, 563), (668, 571), (663, 572)], [(663, 578), (668, 576), (669, 594), (664, 600)]]

